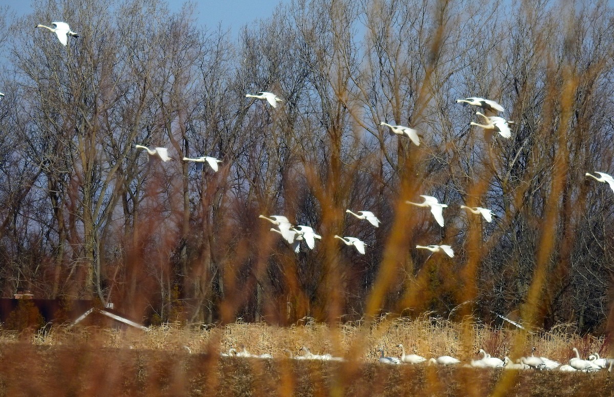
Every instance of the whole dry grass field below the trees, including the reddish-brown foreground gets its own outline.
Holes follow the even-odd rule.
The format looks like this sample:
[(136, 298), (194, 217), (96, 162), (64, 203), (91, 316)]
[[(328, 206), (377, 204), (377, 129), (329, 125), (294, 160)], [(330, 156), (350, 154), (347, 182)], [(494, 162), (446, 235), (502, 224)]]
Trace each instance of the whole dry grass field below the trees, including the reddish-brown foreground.
[[(519, 342), (519, 341), (524, 342)], [(456, 366), (380, 364), (375, 349), (399, 356), (395, 345), (425, 357), (453, 355), (468, 362), (484, 348), (495, 357), (519, 357), (530, 346), (566, 363), (572, 347), (583, 356), (604, 355), (604, 340), (564, 333), (521, 334), (515, 330), (441, 320), (383, 320), (336, 329), (308, 323), (280, 328), (233, 323), (209, 330), (161, 326), (147, 333), (53, 328), (47, 333), (5, 332), (0, 343), (2, 396), (486, 396), (612, 395), (613, 374), (507, 371)], [(271, 359), (221, 357), (245, 345)], [(342, 362), (290, 360), (298, 353), (343, 356)]]

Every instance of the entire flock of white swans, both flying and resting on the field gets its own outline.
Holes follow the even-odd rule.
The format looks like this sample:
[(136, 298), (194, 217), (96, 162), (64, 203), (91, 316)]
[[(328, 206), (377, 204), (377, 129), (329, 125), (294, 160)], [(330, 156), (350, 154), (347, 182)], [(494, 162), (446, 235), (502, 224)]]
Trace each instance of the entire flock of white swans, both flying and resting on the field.
[[(45, 28), (49, 29), (53, 33), (56, 34), (60, 43), (63, 45), (68, 44), (68, 37), (79, 37), (77, 33), (71, 30), (68, 23), (55, 21), (52, 23), (53, 27), (45, 26), (45, 25), (37, 25), (36, 28)], [(0, 98), (4, 96), (3, 93), (0, 93)], [(246, 98), (255, 98), (262, 99), (268, 102), (271, 107), (276, 108), (279, 102), (283, 102), (283, 99), (279, 98), (274, 93), (261, 91), (260, 93), (246, 94)], [(500, 104), (490, 99), (470, 97), (465, 99), (457, 99), (457, 103), (468, 104), (472, 106), (481, 107), (484, 112), (489, 112), (490, 114), (496, 114), (497, 112), (504, 112)], [(492, 131), (499, 133), (503, 138), (511, 137), (511, 129), (510, 125), (514, 124), (513, 121), (505, 120), (503, 117), (494, 116), (494, 115), (486, 115), (481, 112), (476, 112), (476, 115), (480, 116), (484, 119), (484, 123), (475, 123), (471, 122), (470, 125), (478, 126), (483, 128), (486, 131)], [(420, 145), (420, 139), (418, 135), (418, 131), (413, 128), (402, 126), (402, 125), (391, 125), (384, 121), (381, 121), (381, 126), (386, 126), (389, 128), (389, 133), (398, 137), (406, 137), (413, 142), (414, 145)], [(150, 149), (144, 145), (135, 145), (138, 149), (144, 149), (147, 151), (149, 156), (158, 158), (159, 160), (166, 162), (171, 161), (173, 158), (169, 156), (168, 149), (165, 147), (155, 147)], [(217, 158), (211, 156), (200, 156), (197, 158), (188, 158), (183, 157), (183, 161), (195, 161), (200, 163), (208, 163), (211, 166), (213, 171), (218, 171), (218, 164), (222, 162), (222, 160), (218, 160)], [(596, 172), (597, 175), (590, 174), (586, 172), (587, 177), (592, 177), (598, 182), (608, 183), (610, 188), (614, 191), (614, 178), (611, 175), (605, 174), (604, 172)], [(443, 218), (443, 209), (448, 207), (447, 204), (442, 204), (438, 201), (437, 198), (433, 196), (420, 195), (420, 197), (424, 200), (423, 202), (411, 202), (406, 201), (406, 204), (410, 204), (418, 207), (427, 207), (430, 209), (430, 212), (435, 218), (435, 222), (438, 223), (441, 227), (444, 226), (444, 218)], [(480, 215), (484, 218), (486, 222), (492, 222), (492, 217), (495, 216), (492, 210), (483, 208), (483, 207), (467, 207), (462, 205), (462, 209), (468, 210), (468, 212)], [(368, 210), (360, 210), (354, 212), (352, 210), (346, 210), (348, 214), (356, 217), (359, 220), (366, 220), (371, 225), (376, 228), (380, 225), (380, 220), (376, 217), (373, 212)], [(293, 224), (289, 221), (289, 219), (283, 215), (270, 215), (269, 217), (265, 217), (264, 215), (260, 215), (260, 218), (268, 220), (274, 226), (271, 228), (271, 231), (278, 233), (282, 236), (282, 238), (287, 241), (295, 252), (299, 252), (300, 243), (304, 242), (308, 249), (314, 249), (316, 245), (316, 239), (322, 239), (322, 236), (316, 233), (311, 226), (308, 225), (297, 225), (293, 226)], [(346, 245), (353, 245), (357, 252), (361, 254), (365, 254), (365, 247), (367, 244), (361, 241), (357, 237), (352, 236), (338, 236), (335, 235), (334, 238), (340, 239)], [(443, 252), (448, 255), (450, 258), (454, 257), (454, 250), (450, 245), (440, 244), (440, 245), (416, 245), (416, 249), (427, 249), (432, 251), (433, 253)], [(411, 364), (438, 364), (438, 365), (454, 365), (461, 364), (461, 360), (450, 356), (440, 356), (433, 357), (427, 360), (424, 357), (421, 357), (416, 354), (406, 354), (405, 348), (402, 344), (397, 345), (398, 348), (402, 350), (400, 358), (397, 357), (386, 357), (384, 355), (383, 349), (378, 349), (379, 353), (379, 362), (386, 364), (401, 364), (401, 363), (411, 363)], [(187, 348), (189, 349), (189, 348)], [(480, 350), (480, 353), (483, 357), (478, 360), (471, 360), (470, 363), (465, 364), (475, 368), (508, 368), (508, 369), (558, 369), (559, 371), (599, 371), (600, 369), (607, 368), (608, 371), (612, 371), (612, 367), (614, 366), (614, 359), (612, 358), (600, 358), (597, 353), (591, 355), (588, 360), (583, 360), (580, 358), (580, 353), (574, 347), (573, 352), (575, 353), (575, 357), (569, 360), (569, 364), (561, 365), (556, 361), (548, 360), (545, 357), (535, 357), (534, 350), (532, 349), (530, 357), (521, 357), (516, 362), (512, 362), (510, 358), (504, 357), (503, 360), (496, 357), (491, 357), (484, 350)], [(289, 353), (289, 357), (297, 360), (343, 360), (342, 358), (332, 357), (331, 355), (316, 355), (309, 351), (308, 348), (302, 347), (301, 351), (304, 352), (303, 355), (294, 355), (290, 350), (286, 349), (286, 352)], [(228, 353), (222, 353), (225, 356), (236, 356), (236, 357), (252, 357), (252, 358), (271, 358), (271, 355), (252, 355), (247, 352), (245, 347), (243, 346), (241, 350), (230, 349)]]

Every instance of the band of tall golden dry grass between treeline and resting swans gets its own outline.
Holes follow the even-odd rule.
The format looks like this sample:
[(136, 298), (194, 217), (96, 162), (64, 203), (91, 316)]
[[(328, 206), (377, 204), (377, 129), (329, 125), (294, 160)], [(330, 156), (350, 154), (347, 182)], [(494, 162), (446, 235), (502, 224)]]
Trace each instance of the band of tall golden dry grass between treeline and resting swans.
[[(236, 322), (225, 326), (205, 328), (181, 327), (178, 324), (153, 326), (147, 332), (115, 331), (98, 328), (53, 327), (31, 335), (18, 335), (3, 331), (0, 343), (30, 342), (33, 345), (91, 345), (93, 347), (126, 348), (137, 350), (187, 351), (192, 353), (227, 352), (244, 345), (251, 353), (270, 353), (274, 357), (286, 357), (284, 349), (298, 352), (306, 346), (313, 353), (330, 353), (335, 356), (354, 355), (359, 361), (375, 362), (378, 347), (387, 355), (399, 356), (402, 343), (406, 352), (424, 357), (451, 355), (468, 361), (476, 358), (476, 352), (484, 349), (493, 357), (513, 356), (512, 352), (528, 355), (532, 346), (540, 356), (561, 362), (572, 357), (572, 347), (581, 355), (592, 352), (608, 355), (604, 337), (579, 336), (565, 332), (565, 327), (553, 331), (524, 333), (507, 328), (491, 328), (480, 324), (456, 323), (434, 318), (386, 318), (370, 325), (350, 323), (330, 327), (305, 320), (305, 325), (290, 327), (271, 326), (266, 323)], [(520, 341), (519, 345), (515, 345)]]

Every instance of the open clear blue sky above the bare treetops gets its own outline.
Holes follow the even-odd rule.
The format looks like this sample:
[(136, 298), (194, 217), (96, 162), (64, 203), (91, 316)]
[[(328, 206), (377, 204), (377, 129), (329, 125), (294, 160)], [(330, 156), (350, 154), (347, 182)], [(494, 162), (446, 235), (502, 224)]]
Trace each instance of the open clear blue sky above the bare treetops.
[[(171, 11), (180, 10), (182, 4), (184, 4), (183, 0), (167, 2)], [(280, 2), (289, 3), (290, 0), (209, 0), (194, 2), (199, 25), (214, 28), (221, 21), (223, 28), (230, 28), (236, 34), (241, 26), (254, 20), (270, 17)], [(18, 16), (32, 12), (29, 0), (12, 3), (14, 4), (10, 4), (9, 7)]]

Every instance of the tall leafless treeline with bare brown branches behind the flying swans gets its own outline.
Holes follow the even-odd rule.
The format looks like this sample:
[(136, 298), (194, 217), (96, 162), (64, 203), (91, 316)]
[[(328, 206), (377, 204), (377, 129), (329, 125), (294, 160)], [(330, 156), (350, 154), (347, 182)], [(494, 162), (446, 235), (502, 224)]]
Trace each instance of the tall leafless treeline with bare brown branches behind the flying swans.
[[(614, 192), (585, 172), (614, 171), (607, 1), (297, 0), (238, 37), (158, 0), (39, 3), (2, 47), (3, 296), (201, 322), (518, 310), (546, 328), (605, 325)], [(53, 20), (79, 39), (32, 28)], [(284, 104), (245, 98), (262, 90)], [(500, 102), (511, 139), (470, 128), (475, 109), (454, 102), (467, 96)], [(223, 163), (161, 163), (134, 144)], [(445, 228), (405, 204), (421, 194), (449, 204)], [(258, 214), (322, 241), (295, 255)], [(412, 248), (440, 242), (457, 255)]]

